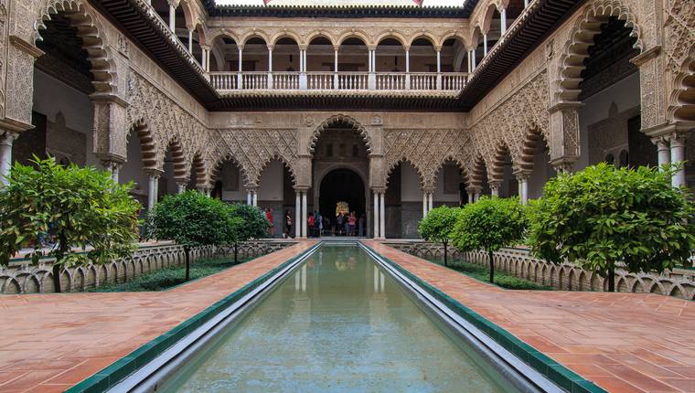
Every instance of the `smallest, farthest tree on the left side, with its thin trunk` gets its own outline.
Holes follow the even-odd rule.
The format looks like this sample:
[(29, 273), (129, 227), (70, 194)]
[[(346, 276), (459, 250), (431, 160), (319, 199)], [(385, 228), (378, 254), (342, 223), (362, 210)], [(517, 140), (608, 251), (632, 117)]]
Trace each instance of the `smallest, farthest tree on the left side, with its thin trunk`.
[(226, 232), (224, 244), (234, 248), (234, 260), (238, 260), (239, 244), (249, 239), (261, 239), (268, 228), (268, 218), (258, 207), (233, 204), (227, 207), (230, 227)]

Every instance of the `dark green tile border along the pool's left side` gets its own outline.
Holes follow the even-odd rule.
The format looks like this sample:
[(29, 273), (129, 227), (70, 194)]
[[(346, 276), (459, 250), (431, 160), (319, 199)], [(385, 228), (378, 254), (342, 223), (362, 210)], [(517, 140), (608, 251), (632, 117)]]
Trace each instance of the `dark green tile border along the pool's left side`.
[[(106, 366), (101, 371), (96, 374), (82, 380), (77, 385), (65, 390), (66, 393), (91, 393), (91, 392), (102, 392), (109, 388), (112, 388), (118, 382), (123, 380), (123, 378), (128, 377), (136, 369), (144, 366), (156, 356), (162, 354), (170, 346), (176, 344), (177, 341), (184, 338), (186, 335), (193, 332), (201, 324), (208, 322), (211, 318), (225, 310), (230, 304), (237, 302), (241, 297), (245, 296), (247, 293), (256, 289), (263, 282), (270, 279), (275, 273), (283, 270), (288, 265), (292, 264), (295, 260), (303, 258), (307, 253), (312, 252), (317, 247), (321, 245), (321, 242), (317, 242), (315, 245), (309, 247), (308, 249), (300, 252), (296, 256), (285, 260), (279, 266), (276, 266), (273, 270), (266, 272), (261, 277), (247, 283), (241, 289), (236, 292), (232, 292), (225, 296), (223, 299), (219, 300), (217, 303), (213, 303), (205, 310), (193, 315), (181, 324), (177, 324), (174, 328), (166, 332), (164, 335), (156, 337), (154, 340), (146, 343), (139, 348), (135, 349), (130, 354), (123, 356), (122, 358), (113, 362), (110, 366)], [(284, 249), (283, 249), (284, 250)]]

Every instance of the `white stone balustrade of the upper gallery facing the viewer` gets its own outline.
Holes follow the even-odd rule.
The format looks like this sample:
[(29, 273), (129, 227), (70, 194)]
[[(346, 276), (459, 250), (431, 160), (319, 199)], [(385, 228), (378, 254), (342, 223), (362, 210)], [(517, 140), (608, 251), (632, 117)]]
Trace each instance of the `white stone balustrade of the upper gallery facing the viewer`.
[(458, 91), (464, 72), (209, 72), (220, 92), (235, 90), (413, 90)]

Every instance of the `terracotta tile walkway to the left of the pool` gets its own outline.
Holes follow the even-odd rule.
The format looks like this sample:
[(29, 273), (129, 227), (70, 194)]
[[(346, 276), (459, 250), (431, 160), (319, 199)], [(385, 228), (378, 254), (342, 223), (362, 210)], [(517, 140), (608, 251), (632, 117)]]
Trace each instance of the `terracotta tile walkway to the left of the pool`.
[(312, 244), (166, 292), (0, 295), (0, 393), (63, 391)]

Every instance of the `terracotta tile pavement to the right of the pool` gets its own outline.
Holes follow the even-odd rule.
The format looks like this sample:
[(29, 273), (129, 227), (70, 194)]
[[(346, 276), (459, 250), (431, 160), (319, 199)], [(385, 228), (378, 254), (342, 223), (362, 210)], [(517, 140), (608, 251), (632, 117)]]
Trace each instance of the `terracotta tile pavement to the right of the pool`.
[(695, 392), (695, 302), (647, 293), (508, 291), (366, 244), (613, 392)]

